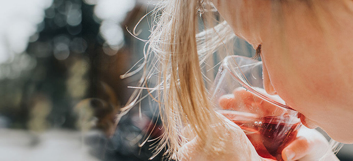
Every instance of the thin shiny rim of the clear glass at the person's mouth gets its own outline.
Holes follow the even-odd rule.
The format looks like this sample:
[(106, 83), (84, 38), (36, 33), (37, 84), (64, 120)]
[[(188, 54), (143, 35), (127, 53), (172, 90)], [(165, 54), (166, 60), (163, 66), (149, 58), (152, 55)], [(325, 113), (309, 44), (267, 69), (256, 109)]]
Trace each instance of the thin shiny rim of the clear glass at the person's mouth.
[[(277, 106), (283, 107), (283, 108), (285, 108), (285, 109), (297, 111), (297, 110), (292, 109), (292, 107), (289, 107), (289, 106), (287, 106), (287, 105), (283, 105), (283, 104), (281, 104), (281, 103), (279, 103), (279, 102), (277, 102), (277, 101), (275, 101), (275, 100), (273, 100), (273, 99), (267, 97), (266, 95), (260, 93), (259, 91), (257, 91), (257, 90), (254, 89), (253, 87), (251, 87), (250, 82), (247, 82), (247, 83), (246, 83), (246, 82), (244, 82), (243, 80), (241, 80), (241, 79), (237, 76), (237, 74), (234, 74), (234, 73), (235, 73), (234, 69), (231, 69), (231, 68), (228, 66), (228, 60), (230, 60), (230, 58), (233, 58), (233, 60), (234, 60), (234, 58), (242, 58), (242, 59), (247, 59), (247, 60), (254, 61), (254, 63), (245, 64), (245, 65), (240, 66), (240, 67), (238, 66), (238, 64), (236, 64), (236, 66), (238, 66), (238, 68), (245, 67), (245, 66), (254, 66), (254, 65), (257, 65), (257, 64), (262, 64), (262, 61), (254, 60), (254, 59), (252, 59), (252, 58), (250, 58), (250, 57), (246, 57), (246, 56), (229, 55), (229, 56), (226, 56), (226, 57), (223, 59), (221, 66), (222, 66), (223, 68), (226, 68), (226, 69), (228, 70), (229, 74), (231, 74), (231, 76), (232, 76), (235, 80), (237, 80), (244, 88), (246, 88), (247, 90), (249, 90), (251, 93), (255, 94), (256, 96), (258, 96), (258, 97), (260, 97), (260, 98), (262, 98), (262, 99), (264, 99), (264, 100), (267, 100), (267, 101), (269, 101), (270, 103), (273, 103), (273, 104), (275, 104), (275, 105), (277, 105)], [(234, 62), (237, 63), (237, 61), (235, 61), (235, 60), (234, 60)], [(243, 75), (243, 76), (244, 76), (243, 73), (241, 73), (241, 74), (239, 74), (239, 75)], [(244, 78), (246, 78), (246, 77), (244, 76)], [(250, 86), (249, 86), (249, 85), (250, 85)], [(297, 111), (297, 112), (298, 112), (298, 111)]]

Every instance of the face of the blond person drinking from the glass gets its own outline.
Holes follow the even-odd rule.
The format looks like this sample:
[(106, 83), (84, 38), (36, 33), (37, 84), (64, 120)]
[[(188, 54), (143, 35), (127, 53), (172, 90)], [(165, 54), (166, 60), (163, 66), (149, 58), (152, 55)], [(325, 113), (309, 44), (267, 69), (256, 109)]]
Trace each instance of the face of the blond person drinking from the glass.
[(320, 126), (334, 140), (353, 143), (353, 14), (348, 2), (325, 1), (315, 10), (320, 14), (305, 1), (287, 2), (280, 6), (279, 21), (271, 0), (213, 1), (236, 35), (255, 47), (262, 44), (267, 91), (301, 112), (306, 126)]

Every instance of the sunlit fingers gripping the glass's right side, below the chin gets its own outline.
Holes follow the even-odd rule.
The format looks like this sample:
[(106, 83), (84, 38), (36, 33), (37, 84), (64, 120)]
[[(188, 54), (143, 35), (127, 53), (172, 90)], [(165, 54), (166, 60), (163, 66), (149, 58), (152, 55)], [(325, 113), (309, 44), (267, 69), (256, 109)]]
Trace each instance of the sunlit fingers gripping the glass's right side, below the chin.
[(285, 161), (339, 161), (326, 138), (315, 129), (302, 127), (297, 138), (282, 150)]

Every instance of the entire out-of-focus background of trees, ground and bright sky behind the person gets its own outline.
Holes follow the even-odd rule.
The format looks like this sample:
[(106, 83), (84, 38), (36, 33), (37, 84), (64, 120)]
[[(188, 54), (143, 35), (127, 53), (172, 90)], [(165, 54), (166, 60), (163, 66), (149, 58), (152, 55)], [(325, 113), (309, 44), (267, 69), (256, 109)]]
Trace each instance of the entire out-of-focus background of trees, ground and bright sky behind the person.
[[(127, 32), (147, 0), (12, 0), (0, 5), (0, 160), (147, 161), (161, 125), (144, 100), (114, 125), (140, 78), (120, 79), (143, 57)], [(150, 17), (137, 27), (148, 39)], [(249, 48), (244, 56), (253, 56)], [(235, 48), (235, 52), (236, 52)], [(217, 72), (218, 67), (210, 70)], [(152, 131), (150, 125), (156, 123)], [(151, 132), (152, 131), (152, 132)], [(352, 161), (345, 145), (338, 156)], [(161, 160), (161, 155), (152, 160)]]

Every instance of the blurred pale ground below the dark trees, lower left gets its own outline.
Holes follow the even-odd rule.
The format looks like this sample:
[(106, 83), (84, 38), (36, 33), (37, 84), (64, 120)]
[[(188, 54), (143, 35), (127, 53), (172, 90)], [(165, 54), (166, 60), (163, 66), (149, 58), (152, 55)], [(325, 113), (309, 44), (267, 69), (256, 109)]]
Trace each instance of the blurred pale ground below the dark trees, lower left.
[(34, 135), (0, 129), (0, 161), (99, 161), (88, 153), (89, 147), (82, 143), (81, 136), (65, 130)]

